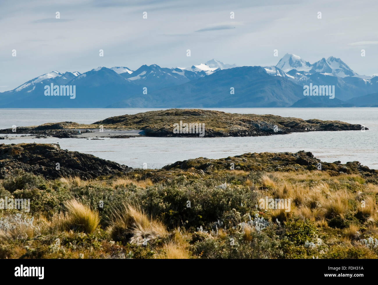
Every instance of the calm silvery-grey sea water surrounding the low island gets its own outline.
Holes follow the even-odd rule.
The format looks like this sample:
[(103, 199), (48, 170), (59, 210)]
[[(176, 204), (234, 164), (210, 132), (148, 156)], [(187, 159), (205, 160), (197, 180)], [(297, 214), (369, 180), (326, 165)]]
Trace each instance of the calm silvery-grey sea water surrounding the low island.
[[(161, 108), (104, 109), (0, 109), (0, 129), (72, 121), (93, 123), (124, 114), (136, 114)], [(209, 109), (209, 108), (207, 108)], [(274, 114), (304, 120), (340, 120), (365, 125), (369, 130), (307, 132), (267, 137), (155, 138), (86, 140), (27, 139), (2, 140), (1, 143), (59, 143), (63, 149), (89, 153), (131, 167), (161, 168), (177, 160), (196, 157), (218, 159), (243, 153), (311, 151), (326, 162), (358, 160), (378, 169), (378, 108), (211, 108), (231, 113)]]

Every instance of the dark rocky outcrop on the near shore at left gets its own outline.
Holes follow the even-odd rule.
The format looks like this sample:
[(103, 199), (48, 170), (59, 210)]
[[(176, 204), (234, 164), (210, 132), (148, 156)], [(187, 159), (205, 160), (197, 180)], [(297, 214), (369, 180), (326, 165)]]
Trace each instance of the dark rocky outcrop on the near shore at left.
[(121, 175), (131, 168), (91, 154), (63, 150), (54, 143), (0, 144), (0, 179), (15, 169), (40, 174), (46, 179), (75, 176), (91, 179)]

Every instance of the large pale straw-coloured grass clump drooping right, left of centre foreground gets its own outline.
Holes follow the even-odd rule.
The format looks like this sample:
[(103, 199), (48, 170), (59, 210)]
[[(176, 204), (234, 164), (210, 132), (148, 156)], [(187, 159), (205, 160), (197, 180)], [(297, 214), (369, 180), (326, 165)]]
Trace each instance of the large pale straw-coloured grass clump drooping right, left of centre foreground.
[(137, 245), (168, 235), (162, 222), (148, 217), (139, 207), (130, 204), (123, 205), (119, 211), (113, 211), (108, 230), (113, 240)]

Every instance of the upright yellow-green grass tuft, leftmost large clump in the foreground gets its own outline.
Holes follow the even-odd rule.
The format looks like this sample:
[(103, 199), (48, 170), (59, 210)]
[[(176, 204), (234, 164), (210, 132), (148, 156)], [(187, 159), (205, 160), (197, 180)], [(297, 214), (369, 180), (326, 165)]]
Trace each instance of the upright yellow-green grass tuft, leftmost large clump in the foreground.
[(87, 234), (93, 233), (99, 222), (100, 218), (96, 211), (91, 210), (89, 207), (72, 199), (64, 203), (67, 213), (56, 214), (51, 225), (60, 231), (82, 231)]

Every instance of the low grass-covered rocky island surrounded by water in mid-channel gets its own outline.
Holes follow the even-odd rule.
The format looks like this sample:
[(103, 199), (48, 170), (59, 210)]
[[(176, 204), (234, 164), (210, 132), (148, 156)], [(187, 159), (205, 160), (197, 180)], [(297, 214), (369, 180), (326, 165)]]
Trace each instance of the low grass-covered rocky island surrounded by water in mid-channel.
[[(180, 123), (181, 122), (181, 123)], [(174, 132), (175, 124), (191, 124), (189, 132)], [(149, 111), (135, 115), (110, 117), (105, 120), (85, 125), (74, 122), (46, 123), (40, 126), (29, 126), (1, 129), (0, 134), (33, 134), (53, 137), (88, 137), (84, 132), (96, 132), (95, 136), (109, 136), (107, 131), (140, 130), (143, 136), (152, 137), (198, 137), (192, 125), (204, 126), (204, 137), (245, 137), (289, 134), (291, 132), (309, 131), (359, 131), (362, 125), (341, 121), (323, 121), (318, 119), (302, 120), (293, 117), (256, 114), (231, 114), (202, 109), (168, 109)], [(197, 125), (196, 125), (197, 126)], [(185, 128), (183, 128), (185, 129)], [(367, 128), (365, 128), (367, 129)], [(83, 134), (78, 135), (78, 131)], [(203, 131), (201, 128), (200, 131)], [(91, 135), (93, 137), (93, 134)], [(112, 134), (112, 137), (115, 135)], [(129, 137), (127, 134), (116, 137)]]

